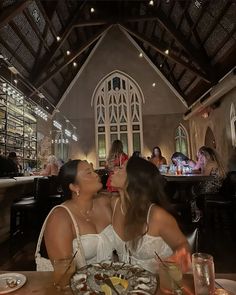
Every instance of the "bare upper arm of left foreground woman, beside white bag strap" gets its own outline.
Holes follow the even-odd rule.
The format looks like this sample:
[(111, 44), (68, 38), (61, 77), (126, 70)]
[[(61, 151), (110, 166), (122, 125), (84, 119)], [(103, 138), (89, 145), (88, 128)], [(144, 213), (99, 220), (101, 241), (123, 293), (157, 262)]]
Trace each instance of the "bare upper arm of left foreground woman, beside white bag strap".
[(63, 208), (57, 208), (47, 221), (44, 240), (50, 260), (71, 257), (74, 233), (71, 219)]

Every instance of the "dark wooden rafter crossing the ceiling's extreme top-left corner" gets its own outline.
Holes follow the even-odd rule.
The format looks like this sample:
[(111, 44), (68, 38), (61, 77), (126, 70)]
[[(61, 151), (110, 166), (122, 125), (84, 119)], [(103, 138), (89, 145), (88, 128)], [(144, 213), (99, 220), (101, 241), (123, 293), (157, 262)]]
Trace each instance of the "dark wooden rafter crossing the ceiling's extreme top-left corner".
[(0, 28), (9, 23), (16, 15), (22, 12), (32, 0), (17, 1), (15, 4), (6, 7), (0, 14)]

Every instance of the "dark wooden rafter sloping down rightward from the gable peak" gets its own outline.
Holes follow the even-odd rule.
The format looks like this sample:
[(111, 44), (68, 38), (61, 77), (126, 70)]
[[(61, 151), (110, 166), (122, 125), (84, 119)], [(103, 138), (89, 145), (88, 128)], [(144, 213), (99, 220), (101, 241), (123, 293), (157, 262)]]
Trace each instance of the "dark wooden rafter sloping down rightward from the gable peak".
[(136, 32), (132, 29), (130, 29), (128, 26), (122, 25), (122, 28), (124, 28), (127, 32), (129, 32), (131, 35), (139, 39), (140, 41), (144, 42), (145, 44), (152, 47), (154, 50), (158, 51), (163, 56), (167, 57), (168, 59), (177, 62), (184, 68), (188, 69), (190, 72), (196, 74), (197, 76), (201, 77), (204, 81), (210, 82), (209, 78), (202, 72), (198, 71), (195, 67), (191, 66), (190, 64), (183, 61), (181, 58), (179, 58), (177, 55), (174, 55), (173, 53), (169, 52), (169, 54), (165, 53), (166, 47), (164, 47), (160, 42), (156, 42), (153, 39), (147, 38), (143, 34), (140, 34), (139, 32)]

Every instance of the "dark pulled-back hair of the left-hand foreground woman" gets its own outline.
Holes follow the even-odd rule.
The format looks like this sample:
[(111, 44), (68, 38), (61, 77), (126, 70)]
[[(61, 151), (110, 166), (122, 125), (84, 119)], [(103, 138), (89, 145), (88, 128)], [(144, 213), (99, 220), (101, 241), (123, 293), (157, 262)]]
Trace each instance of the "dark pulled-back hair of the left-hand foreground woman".
[(81, 162), (81, 160), (71, 160), (64, 164), (59, 171), (58, 181), (63, 191), (64, 200), (70, 200), (72, 198), (70, 184), (75, 183), (78, 165)]

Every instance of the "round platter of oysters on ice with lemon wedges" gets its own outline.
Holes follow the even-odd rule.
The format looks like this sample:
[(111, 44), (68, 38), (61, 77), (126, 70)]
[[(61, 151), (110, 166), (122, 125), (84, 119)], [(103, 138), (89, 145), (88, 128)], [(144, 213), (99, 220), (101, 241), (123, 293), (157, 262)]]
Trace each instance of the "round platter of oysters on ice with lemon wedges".
[(71, 288), (76, 295), (151, 295), (155, 294), (157, 280), (139, 266), (105, 261), (78, 270)]

